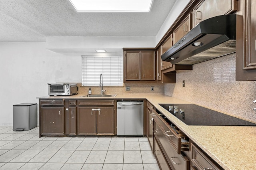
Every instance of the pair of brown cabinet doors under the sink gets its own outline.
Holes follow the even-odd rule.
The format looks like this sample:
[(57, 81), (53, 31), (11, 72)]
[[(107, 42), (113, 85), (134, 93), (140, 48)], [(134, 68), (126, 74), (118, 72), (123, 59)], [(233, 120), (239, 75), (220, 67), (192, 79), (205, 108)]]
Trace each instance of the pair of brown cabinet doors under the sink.
[(78, 135), (114, 135), (114, 107), (78, 107)]

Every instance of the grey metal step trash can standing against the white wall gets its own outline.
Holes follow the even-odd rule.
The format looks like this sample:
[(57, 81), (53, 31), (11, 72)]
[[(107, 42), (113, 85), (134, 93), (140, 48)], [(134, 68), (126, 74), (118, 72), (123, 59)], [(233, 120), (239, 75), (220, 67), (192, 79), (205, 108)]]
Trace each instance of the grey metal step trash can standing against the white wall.
[(20, 103), (13, 105), (13, 130), (30, 130), (36, 126), (36, 103)]

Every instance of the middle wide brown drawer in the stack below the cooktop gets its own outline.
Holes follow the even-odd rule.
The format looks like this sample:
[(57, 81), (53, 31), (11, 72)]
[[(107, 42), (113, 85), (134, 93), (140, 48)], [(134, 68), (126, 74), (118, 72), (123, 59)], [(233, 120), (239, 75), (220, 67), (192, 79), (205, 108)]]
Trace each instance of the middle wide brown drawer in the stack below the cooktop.
[(183, 154), (183, 152), (180, 154), (176, 152), (170, 141), (166, 138), (164, 130), (158, 125), (158, 123), (154, 123), (154, 135), (166, 157), (166, 160), (170, 164), (170, 167), (174, 170), (188, 170), (188, 158)]

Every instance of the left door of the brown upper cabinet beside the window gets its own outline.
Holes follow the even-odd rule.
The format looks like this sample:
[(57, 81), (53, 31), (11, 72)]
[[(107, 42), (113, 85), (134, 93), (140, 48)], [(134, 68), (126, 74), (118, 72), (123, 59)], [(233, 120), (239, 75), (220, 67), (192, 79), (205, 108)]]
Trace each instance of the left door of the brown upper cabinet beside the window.
[(125, 59), (125, 79), (140, 80), (140, 51), (126, 51)]

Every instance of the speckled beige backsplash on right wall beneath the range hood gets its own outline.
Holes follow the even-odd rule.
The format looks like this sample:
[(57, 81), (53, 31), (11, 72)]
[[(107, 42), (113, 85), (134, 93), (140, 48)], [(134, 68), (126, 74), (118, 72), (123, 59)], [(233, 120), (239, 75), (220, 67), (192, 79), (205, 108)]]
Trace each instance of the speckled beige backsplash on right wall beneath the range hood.
[(256, 81), (236, 81), (235, 69), (235, 53), (195, 64), (191, 71), (177, 71), (164, 94), (256, 123)]

